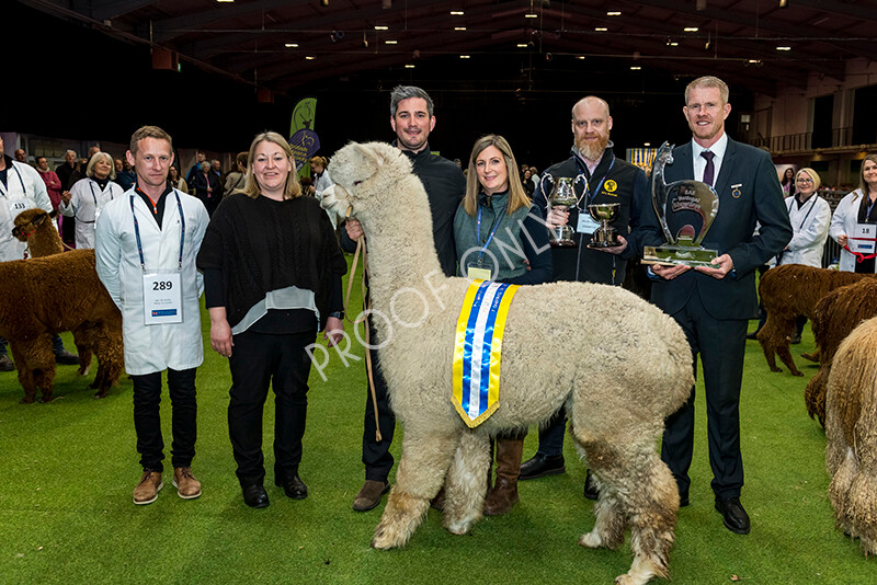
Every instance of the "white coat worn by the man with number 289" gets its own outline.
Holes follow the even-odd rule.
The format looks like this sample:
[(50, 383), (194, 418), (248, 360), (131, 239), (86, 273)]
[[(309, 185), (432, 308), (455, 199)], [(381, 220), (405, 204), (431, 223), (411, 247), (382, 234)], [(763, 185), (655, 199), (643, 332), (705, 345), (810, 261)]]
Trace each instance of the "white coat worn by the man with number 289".
[[(140, 230), (147, 272), (176, 269), (180, 253), (180, 213), (185, 217), (185, 244), (181, 274), (183, 322), (146, 325), (140, 256), (134, 231), (130, 200)], [(181, 191), (167, 195), (164, 216), (159, 230), (152, 213), (134, 190), (107, 203), (98, 218), (94, 253), (100, 277), (122, 311), (125, 341), (125, 370), (135, 376), (167, 368), (183, 370), (201, 365), (204, 359), (201, 337), (198, 297), (204, 291), (203, 276), (195, 268), (209, 218), (204, 204)]]

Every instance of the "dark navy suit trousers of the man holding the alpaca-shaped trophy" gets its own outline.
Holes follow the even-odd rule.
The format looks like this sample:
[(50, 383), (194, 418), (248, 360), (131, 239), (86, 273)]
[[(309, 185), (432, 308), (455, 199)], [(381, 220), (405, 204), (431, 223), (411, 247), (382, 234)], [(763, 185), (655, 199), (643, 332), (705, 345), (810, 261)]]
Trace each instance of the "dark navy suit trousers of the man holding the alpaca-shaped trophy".
[[(713, 491), (720, 498), (739, 497), (743, 486), (740, 455), (740, 387), (743, 382), (745, 319), (718, 320), (709, 316), (697, 291), (673, 316), (692, 346), (692, 366), (697, 355), (704, 369), (709, 466)], [(691, 485), (688, 468), (694, 450), (694, 388), (685, 404), (667, 418), (661, 459), (670, 467), (681, 494)]]

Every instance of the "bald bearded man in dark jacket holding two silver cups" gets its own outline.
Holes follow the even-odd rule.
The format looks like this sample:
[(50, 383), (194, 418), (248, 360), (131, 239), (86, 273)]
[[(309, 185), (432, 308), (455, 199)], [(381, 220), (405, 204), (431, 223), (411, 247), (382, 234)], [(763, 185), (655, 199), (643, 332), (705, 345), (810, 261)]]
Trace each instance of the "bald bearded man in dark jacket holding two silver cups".
[[(572, 107), (572, 135), (576, 144), (571, 156), (546, 170), (533, 194), (533, 203), (545, 209), (550, 188), (558, 179), (581, 177), (581, 186), (577, 188), (579, 204), (569, 210), (555, 207), (547, 214), (549, 225), (570, 225), (576, 229), (574, 246), (551, 249), (554, 280), (620, 285), (625, 277), (627, 259), (638, 249), (639, 213), (648, 205), (648, 180), (641, 169), (615, 157), (610, 130), (612, 116), (608, 104), (593, 95), (579, 100)], [(588, 206), (603, 203), (620, 204), (618, 217), (612, 226), (617, 230), (618, 241), (622, 243), (614, 248), (590, 249), (588, 243), (599, 225), (588, 213)], [(521, 480), (553, 475), (566, 470), (565, 427), (566, 412), (560, 409), (539, 432), (539, 448), (534, 457), (521, 466)], [(585, 480), (584, 495), (591, 500), (597, 497), (590, 474)]]

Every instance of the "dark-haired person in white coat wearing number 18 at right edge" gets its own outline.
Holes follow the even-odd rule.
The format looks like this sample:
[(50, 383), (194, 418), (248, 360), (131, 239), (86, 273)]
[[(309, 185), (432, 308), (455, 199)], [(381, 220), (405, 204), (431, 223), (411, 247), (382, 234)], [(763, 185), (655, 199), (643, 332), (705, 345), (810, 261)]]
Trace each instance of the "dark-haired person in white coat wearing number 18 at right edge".
[[(872, 274), (875, 269), (875, 252), (856, 250), (856, 236), (865, 237), (864, 231), (869, 230), (870, 238), (874, 238), (874, 228), (870, 223), (877, 223), (877, 153), (865, 157), (862, 161), (862, 171), (858, 174), (858, 188), (847, 193), (831, 218), (829, 234), (836, 241), (841, 250), (840, 269)], [(851, 238), (853, 241), (851, 242)]]

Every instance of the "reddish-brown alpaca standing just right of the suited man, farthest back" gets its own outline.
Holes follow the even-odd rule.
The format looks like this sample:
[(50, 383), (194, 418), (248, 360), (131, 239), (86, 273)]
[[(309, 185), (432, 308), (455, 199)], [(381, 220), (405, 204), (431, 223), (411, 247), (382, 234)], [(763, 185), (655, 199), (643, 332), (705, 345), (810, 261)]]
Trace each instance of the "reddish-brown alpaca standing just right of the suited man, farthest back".
[(767, 271), (759, 285), (759, 297), (767, 311), (767, 321), (759, 332), (759, 343), (771, 371), (783, 371), (776, 366), (776, 354), (793, 376), (804, 376), (795, 366), (789, 349), (795, 319), (799, 314), (812, 319), (822, 297), (868, 276), (874, 275), (813, 268), (802, 264), (787, 264)]

